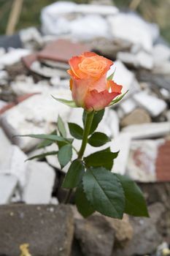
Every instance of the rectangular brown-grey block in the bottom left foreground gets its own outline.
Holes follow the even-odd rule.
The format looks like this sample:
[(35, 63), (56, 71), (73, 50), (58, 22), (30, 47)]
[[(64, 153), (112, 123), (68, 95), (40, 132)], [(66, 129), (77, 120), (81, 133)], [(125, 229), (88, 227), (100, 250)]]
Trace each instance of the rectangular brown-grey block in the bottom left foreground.
[(0, 255), (20, 255), (21, 244), (29, 244), (34, 256), (70, 255), (74, 233), (70, 206), (1, 206), (0, 226)]

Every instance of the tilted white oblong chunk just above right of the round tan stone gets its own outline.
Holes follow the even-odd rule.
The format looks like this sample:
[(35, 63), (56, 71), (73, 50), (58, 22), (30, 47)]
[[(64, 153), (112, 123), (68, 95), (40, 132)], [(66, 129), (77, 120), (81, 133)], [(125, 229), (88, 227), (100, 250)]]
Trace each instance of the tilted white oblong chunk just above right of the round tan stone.
[(141, 91), (134, 95), (135, 101), (145, 108), (151, 116), (159, 116), (164, 110), (166, 110), (166, 102), (163, 99), (158, 99), (152, 95), (147, 94), (146, 91)]

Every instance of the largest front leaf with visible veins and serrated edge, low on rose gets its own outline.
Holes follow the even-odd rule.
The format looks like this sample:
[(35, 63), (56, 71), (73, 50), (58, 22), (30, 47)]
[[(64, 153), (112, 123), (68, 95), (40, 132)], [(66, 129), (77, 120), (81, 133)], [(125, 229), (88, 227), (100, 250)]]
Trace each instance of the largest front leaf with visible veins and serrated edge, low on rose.
[(122, 219), (125, 196), (120, 181), (104, 167), (90, 167), (82, 177), (85, 195), (93, 208), (108, 217)]

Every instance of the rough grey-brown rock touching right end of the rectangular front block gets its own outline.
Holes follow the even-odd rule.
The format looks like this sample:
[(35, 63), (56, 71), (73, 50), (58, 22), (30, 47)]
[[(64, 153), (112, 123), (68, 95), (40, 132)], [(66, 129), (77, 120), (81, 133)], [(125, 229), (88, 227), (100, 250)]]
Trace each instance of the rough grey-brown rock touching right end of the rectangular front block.
[(101, 215), (88, 219), (75, 219), (75, 237), (81, 250), (88, 256), (110, 256), (115, 241), (115, 231)]

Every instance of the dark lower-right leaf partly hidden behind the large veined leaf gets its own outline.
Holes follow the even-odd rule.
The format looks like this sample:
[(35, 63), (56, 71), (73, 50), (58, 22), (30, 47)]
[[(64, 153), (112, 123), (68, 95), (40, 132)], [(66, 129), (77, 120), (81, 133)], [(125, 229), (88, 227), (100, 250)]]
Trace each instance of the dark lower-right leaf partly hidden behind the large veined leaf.
[(120, 181), (125, 194), (125, 214), (135, 217), (149, 217), (147, 204), (141, 189), (128, 176), (114, 174)]

